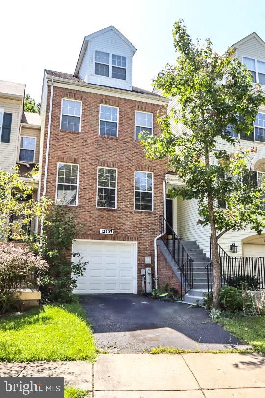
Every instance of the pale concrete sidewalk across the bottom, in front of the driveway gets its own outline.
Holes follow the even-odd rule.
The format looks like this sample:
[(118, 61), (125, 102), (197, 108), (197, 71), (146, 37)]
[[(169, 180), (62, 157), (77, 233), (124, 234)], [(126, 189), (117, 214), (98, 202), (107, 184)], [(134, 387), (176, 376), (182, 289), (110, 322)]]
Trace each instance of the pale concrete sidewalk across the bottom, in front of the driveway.
[(64, 376), (94, 398), (262, 398), (259, 354), (101, 354), (84, 361), (1, 363), (0, 376)]

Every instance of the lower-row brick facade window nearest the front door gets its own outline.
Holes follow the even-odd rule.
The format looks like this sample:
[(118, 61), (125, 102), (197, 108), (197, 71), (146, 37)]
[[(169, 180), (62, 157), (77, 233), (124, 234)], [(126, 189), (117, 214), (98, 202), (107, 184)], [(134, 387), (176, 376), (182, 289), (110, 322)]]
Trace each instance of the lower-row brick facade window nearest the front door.
[(153, 211), (153, 173), (135, 171), (135, 210)]

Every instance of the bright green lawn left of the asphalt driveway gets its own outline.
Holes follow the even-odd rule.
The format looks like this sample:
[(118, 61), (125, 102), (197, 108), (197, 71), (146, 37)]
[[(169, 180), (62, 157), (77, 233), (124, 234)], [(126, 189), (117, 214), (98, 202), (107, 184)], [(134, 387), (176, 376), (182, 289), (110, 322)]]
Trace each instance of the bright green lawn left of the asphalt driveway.
[(46, 305), (0, 319), (0, 361), (93, 362), (96, 347), (79, 304)]

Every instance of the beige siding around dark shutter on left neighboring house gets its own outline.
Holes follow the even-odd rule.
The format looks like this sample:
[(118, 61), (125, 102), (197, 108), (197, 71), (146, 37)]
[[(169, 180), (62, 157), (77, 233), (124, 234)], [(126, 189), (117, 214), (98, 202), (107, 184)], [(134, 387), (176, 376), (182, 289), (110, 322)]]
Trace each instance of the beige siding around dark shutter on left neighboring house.
[(10, 142), (0, 142), (0, 167), (8, 172), (16, 165), (17, 143), (21, 118), (21, 101), (0, 98), (0, 108), (12, 114)]

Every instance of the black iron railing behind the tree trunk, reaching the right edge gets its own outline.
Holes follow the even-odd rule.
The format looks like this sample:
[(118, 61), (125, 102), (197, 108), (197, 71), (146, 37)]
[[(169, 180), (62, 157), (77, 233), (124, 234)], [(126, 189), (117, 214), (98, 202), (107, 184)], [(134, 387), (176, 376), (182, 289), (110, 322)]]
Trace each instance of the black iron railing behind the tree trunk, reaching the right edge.
[[(248, 290), (265, 290), (264, 257), (231, 257), (218, 244), (220, 260), (221, 286), (244, 287)], [(212, 239), (210, 237), (210, 260), (205, 267), (208, 276), (208, 291), (212, 291)]]

